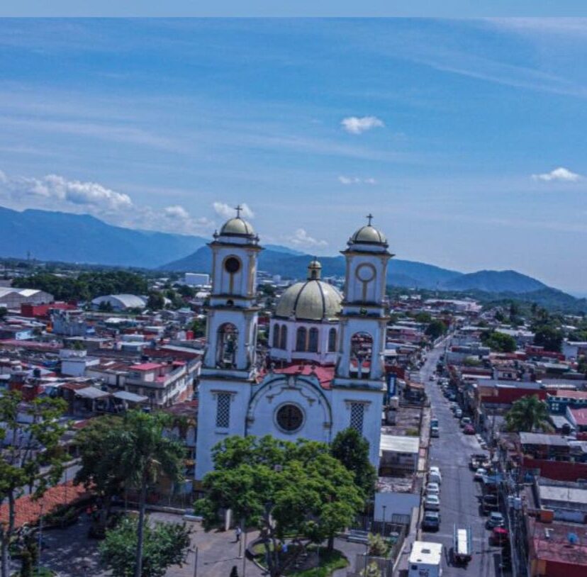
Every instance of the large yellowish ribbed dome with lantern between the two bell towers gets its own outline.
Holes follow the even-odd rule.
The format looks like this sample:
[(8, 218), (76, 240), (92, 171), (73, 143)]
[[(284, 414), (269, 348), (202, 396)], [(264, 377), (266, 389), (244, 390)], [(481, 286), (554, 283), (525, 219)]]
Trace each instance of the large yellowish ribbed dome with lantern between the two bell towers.
[(298, 320), (330, 320), (340, 313), (342, 295), (331, 284), (320, 281), (321, 265), (313, 260), (308, 280), (292, 284), (279, 298), (276, 317)]

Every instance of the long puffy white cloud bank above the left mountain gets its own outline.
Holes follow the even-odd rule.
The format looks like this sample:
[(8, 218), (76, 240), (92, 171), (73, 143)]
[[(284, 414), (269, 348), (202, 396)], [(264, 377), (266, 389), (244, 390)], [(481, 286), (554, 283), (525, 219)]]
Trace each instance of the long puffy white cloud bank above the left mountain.
[(127, 210), (133, 207), (128, 194), (107, 189), (97, 182), (67, 180), (57, 174), (37, 179), (9, 177), (0, 172), (0, 186), (11, 196), (38, 196), (77, 205), (89, 205), (106, 211)]

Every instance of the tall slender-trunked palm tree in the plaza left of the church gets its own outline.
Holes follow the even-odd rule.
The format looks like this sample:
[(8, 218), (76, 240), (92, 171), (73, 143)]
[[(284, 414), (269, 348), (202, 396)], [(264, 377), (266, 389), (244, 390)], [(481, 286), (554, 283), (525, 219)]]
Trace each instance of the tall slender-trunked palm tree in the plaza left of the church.
[(165, 413), (130, 411), (125, 417), (125, 427), (118, 443), (123, 475), (128, 484), (139, 491), (135, 577), (142, 577), (142, 534), (147, 489), (157, 482), (161, 474), (174, 483), (181, 479), (184, 447), (166, 435), (171, 420), (170, 415)]

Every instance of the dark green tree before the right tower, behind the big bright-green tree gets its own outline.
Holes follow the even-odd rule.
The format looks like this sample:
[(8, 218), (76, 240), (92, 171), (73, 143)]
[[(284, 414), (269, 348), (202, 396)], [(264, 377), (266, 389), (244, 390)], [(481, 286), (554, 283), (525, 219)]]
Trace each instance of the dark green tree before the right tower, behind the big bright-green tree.
[(351, 471), (354, 483), (361, 488), (364, 498), (370, 498), (375, 491), (377, 471), (369, 461), (369, 441), (349, 427), (337, 433), (330, 452)]

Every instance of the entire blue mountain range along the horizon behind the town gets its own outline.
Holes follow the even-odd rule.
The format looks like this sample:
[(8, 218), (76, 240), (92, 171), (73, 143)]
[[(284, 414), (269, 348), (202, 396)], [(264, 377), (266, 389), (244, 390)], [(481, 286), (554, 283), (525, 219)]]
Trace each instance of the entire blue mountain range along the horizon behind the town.
[[(166, 271), (209, 271), (208, 240), (193, 235), (131, 230), (90, 215), (0, 207), (0, 256), (45, 261), (105, 264)], [(289, 278), (304, 278), (311, 255), (281, 245), (264, 245), (259, 269)], [(323, 276), (344, 276), (345, 259), (320, 257)], [(432, 264), (392, 259), (388, 284), (413, 289), (485, 291), (522, 294), (552, 291), (516, 271), (459, 271)], [(558, 291), (560, 292), (560, 291)], [(561, 293), (564, 294), (564, 293)], [(572, 297), (569, 297), (572, 298)]]

